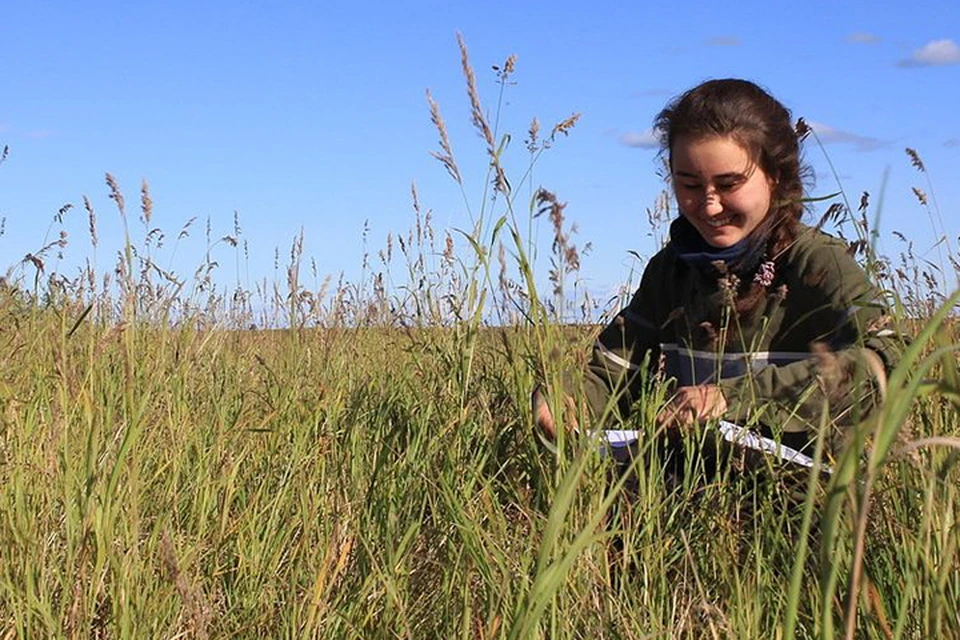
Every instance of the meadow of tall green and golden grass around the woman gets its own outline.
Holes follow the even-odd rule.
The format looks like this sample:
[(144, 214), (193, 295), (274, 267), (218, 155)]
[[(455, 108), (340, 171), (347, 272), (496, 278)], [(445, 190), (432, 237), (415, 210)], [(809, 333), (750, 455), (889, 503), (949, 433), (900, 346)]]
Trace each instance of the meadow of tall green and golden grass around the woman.
[[(759, 484), (668, 491), (641, 456), (627, 491), (595, 441), (551, 447), (532, 426), (532, 389), (577, 370), (598, 321), (561, 201), (522, 188), (576, 116), (534, 121), (514, 172), (462, 52), (490, 166), (466, 232), (435, 231), (414, 192), (412, 228), (362, 281), (307, 286), (301, 240), (282, 281), (225, 288), (209, 257), (190, 277), (157, 266), (147, 185), (128, 207), (108, 175), (115, 266), (52, 272), (58, 237), (7, 272), (0, 635), (960, 637), (950, 243), (940, 263), (906, 238), (878, 256), (866, 197), (825, 205), (913, 337), (882, 410), (815, 452), (832, 475), (771, 463)], [(658, 202), (652, 226), (675, 214)], [(58, 215), (81, 209), (103, 253), (88, 200)], [(534, 219), (552, 230), (540, 259)], [(238, 260), (239, 235), (220, 241)], [(651, 433), (662, 401), (627, 426)]]

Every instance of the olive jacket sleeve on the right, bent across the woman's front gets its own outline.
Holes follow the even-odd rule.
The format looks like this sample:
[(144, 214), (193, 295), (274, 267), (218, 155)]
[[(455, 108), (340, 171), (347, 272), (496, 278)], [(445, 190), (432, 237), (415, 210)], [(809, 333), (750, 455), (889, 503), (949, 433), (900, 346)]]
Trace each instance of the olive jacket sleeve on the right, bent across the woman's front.
[[(811, 356), (722, 380), (727, 417), (741, 424), (816, 430), (824, 408), (834, 425), (854, 424), (881, 401), (881, 378), (899, 360), (903, 341), (886, 305), (843, 244), (817, 243), (798, 262), (786, 295), (796, 296), (791, 308), (801, 313), (785, 321), (806, 325), (805, 333), (814, 337)], [(877, 362), (871, 352), (884, 371), (871, 366)]]

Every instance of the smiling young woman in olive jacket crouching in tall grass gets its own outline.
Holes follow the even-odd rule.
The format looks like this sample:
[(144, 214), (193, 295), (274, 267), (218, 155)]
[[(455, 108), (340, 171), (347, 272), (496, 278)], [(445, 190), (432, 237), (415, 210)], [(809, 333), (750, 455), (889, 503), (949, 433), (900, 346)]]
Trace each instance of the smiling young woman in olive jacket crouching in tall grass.
[[(657, 417), (668, 432), (722, 417), (802, 448), (824, 411), (833, 424), (862, 419), (899, 342), (846, 244), (800, 222), (790, 112), (751, 82), (711, 80), (655, 125), (680, 216), (596, 342), (583, 385), (593, 420), (626, 417), (655, 381), (673, 385)], [(553, 437), (540, 390), (534, 406)]]

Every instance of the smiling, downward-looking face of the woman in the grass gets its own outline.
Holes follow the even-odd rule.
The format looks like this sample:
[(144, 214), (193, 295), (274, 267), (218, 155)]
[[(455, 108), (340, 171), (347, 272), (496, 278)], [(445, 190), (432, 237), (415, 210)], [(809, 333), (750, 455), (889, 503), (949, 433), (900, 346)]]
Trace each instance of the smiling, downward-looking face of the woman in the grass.
[(670, 161), (680, 212), (712, 247), (743, 240), (770, 210), (773, 181), (733, 138), (681, 136)]

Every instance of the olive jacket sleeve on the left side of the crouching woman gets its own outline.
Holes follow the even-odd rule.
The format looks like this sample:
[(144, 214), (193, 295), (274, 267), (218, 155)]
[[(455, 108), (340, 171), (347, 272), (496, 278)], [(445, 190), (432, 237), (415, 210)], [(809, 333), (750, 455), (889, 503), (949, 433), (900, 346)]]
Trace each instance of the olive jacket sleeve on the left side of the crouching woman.
[[(630, 304), (600, 332), (583, 373), (583, 393), (594, 421), (626, 418), (644, 381), (660, 360), (657, 318), (664, 308), (660, 299), (662, 254), (643, 272), (640, 287)], [(567, 389), (575, 381), (565, 380)]]

